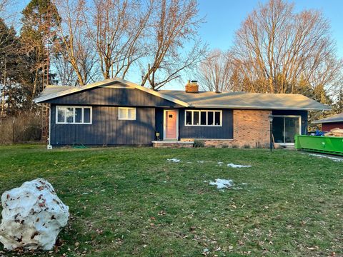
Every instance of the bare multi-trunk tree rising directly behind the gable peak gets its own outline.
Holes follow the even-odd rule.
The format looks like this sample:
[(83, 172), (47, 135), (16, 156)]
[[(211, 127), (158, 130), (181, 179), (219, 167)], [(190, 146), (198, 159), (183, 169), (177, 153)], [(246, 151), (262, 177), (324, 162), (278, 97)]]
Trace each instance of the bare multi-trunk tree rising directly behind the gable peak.
[(142, 41), (152, 8), (138, 0), (94, 0), (91, 19), (85, 20), (104, 79), (124, 79), (130, 66), (146, 54)]

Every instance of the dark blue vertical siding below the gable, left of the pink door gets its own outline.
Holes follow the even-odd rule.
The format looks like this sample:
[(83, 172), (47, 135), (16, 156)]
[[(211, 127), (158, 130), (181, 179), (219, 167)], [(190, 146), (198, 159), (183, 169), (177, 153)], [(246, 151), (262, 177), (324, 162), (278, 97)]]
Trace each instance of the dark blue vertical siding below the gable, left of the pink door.
[(53, 146), (150, 145), (154, 140), (155, 109), (136, 108), (135, 121), (118, 119), (118, 107), (92, 106), (92, 124), (56, 124), (56, 106), (51, 105), (50, 143)]

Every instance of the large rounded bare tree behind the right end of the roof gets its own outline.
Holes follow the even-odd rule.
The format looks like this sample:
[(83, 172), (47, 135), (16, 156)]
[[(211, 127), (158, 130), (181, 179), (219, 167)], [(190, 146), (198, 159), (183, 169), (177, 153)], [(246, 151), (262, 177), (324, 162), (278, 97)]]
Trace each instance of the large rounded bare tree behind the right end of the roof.
[(329, 89), (342, 70), (329, 22), (314, 10), (294, 12), (287, 1), (259, 4), (236, 33), (232, 53), (251, 91), (293, 93), (303, 76)]

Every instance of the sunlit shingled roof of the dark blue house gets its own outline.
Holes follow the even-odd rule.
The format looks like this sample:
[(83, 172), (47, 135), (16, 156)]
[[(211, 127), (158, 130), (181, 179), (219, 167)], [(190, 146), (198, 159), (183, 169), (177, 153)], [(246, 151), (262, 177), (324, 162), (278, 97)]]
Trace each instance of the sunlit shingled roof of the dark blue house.
[(266, 109), (266, 110), (330, 110), (329, 106), (320, 104), (300, 94), (258, 94), (245, 92), (199, 92), (186, 93), (181, 90), (153, 91), (123, 79), (107, 79), (87, 86), (47, 86), (35, 99), (36, 103), (49, 99), (74, 94), (96, 86), (111, 86), (121, 84), (130, 89), (139, 89), (154, 94), (163, 99), (173, 101), (190, 108), (222, 108), (222, 109)]

